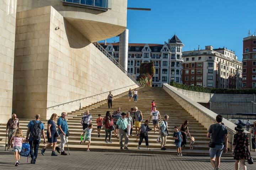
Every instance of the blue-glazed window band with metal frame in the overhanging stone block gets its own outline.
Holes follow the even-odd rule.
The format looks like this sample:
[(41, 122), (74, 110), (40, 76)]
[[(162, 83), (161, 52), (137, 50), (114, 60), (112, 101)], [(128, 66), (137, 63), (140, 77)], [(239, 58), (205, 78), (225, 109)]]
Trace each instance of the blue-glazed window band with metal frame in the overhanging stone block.
[(108, 10), (108, 0), (61, 0), (65, 6), (89, 8), (106, 12)]

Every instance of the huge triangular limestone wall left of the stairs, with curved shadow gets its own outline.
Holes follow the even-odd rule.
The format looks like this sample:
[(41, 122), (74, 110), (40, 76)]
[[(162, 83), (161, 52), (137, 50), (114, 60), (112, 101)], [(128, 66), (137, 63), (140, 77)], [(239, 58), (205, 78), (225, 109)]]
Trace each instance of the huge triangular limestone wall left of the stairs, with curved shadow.
[[(51, 6), (17, 12), (16, 30), (14, 109), (20, 117), (39, 113), (46, 119), (74, 111), (80, 102), (47, 107), (138, 87)], [(81, 101), (81, 106), (106, 97)]]

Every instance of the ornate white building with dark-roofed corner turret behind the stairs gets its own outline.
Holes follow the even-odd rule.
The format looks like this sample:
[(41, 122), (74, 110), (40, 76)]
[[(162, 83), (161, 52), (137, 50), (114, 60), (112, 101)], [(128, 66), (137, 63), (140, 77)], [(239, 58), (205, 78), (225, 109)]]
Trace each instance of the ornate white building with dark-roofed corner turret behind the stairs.
[[(119, 42), (100, 44), (119, 61)], [(129, 43), (127, 71), (138, 78), (140, 63), (154, 61), (153, 87), (161, 87), (162, 84), (170, 81), (182, 83), (183, 46), (176, 34), (164, 44)]]

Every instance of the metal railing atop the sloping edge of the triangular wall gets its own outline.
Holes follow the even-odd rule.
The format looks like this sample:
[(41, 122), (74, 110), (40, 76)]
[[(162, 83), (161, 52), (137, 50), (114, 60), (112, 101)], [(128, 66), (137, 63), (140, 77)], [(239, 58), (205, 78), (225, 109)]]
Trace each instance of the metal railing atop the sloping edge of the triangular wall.
[(130, 73), (128, 73), (126, 71), (126, 69), (124, 69), (121, 64), (119, 64), (116, 59), (114, 59), (114, 57), (112, 57), (110, 55), (110, 53), (107, 52), (107, 50), (105, 50), (98, 42), (93, 42), (92, 44), (94, 44), (105, 56), (108, 57), (108, 59), (110, 59), (110, 61), (112, 61), (114, 64), (116, 64), (116, 66), (122, 70), (122, 72), (124, 72), (130, 79), (132, 79), (134, 81), (134, 83), (136, 83), (138, 86), (140, 86), (140, 84), (138, 83), (137, 80), (135, 80), (132, 75), (130, 75)]

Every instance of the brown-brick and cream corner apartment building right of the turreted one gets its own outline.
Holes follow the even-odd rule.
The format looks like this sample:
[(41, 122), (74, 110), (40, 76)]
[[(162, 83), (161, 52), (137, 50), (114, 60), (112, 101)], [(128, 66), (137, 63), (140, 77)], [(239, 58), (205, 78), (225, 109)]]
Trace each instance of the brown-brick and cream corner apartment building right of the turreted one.
[(182, 82), (191, 86), (239, 89), (242, 62), (227, 48), (183, 51)]

